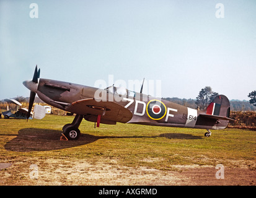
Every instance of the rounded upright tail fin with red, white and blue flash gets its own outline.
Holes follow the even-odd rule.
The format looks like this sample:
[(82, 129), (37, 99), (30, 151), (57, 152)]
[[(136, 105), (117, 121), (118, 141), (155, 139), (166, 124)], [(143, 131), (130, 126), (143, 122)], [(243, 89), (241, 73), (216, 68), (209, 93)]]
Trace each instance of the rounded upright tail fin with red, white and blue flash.
[(227, 97), (224, 95), (218, 95), (213, 99), (213, 101), (211, 101), (210, 105), (207, 107), (206, 114), (229, 118), (229, 99), (227, 99)]

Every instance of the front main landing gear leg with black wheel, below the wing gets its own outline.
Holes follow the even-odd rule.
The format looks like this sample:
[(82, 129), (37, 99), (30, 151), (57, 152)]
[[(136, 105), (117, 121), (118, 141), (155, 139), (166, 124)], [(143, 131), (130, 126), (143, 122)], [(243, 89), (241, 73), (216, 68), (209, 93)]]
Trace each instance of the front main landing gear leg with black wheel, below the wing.
[(66, 124), (63, 126), (62, 130), (66, 138), (69, 140), (79, 139), (81, 132), (78, 127), (80, 126), (83, 118), (84, 116), (76, 114), (76, 117), (74, 117), (74, 120), (71, 124)]

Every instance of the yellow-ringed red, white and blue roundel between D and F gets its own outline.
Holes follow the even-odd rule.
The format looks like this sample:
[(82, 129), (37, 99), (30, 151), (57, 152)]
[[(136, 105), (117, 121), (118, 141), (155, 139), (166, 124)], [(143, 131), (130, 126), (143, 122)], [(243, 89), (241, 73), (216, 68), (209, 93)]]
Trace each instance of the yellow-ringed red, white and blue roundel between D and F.
[(159, 120), (166, 115), (166, 105), (160, 100), (151, 100), (146, 107), (149, 118)]

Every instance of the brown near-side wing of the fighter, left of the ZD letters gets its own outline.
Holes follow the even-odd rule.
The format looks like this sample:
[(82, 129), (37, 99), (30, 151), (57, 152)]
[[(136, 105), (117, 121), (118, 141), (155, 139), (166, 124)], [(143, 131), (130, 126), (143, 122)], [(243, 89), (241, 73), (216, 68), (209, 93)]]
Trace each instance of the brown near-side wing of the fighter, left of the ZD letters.
[(127, 123), (133, 117), (130, 110), (113, 101), (96, 101), (94, 98), (74, 101), (66, 106), (65, 110), (81, 115), (92, 114), (97, 116), (100, 114), (104, 120), (120, 123)]

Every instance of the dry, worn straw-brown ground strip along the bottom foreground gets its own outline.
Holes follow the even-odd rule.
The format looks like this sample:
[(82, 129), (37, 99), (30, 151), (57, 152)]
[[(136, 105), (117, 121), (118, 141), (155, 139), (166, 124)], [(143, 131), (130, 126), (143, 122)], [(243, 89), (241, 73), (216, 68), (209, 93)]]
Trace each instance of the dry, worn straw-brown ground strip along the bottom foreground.
[[(146, 159), (149, 160), (149, 159)], [(153, 159), (156, 160), (156, 159)], [(38, 166), (38, 178), (30, 178), (30, 163)], [(118, 160), (36, 159), (13, 162), (1, 170), (1, 185), (254, 185), (256, 171), (249, 167), (224, 169), (216, 179), (213, 166), (174, 166), (177, 171), (120, 166)]]

